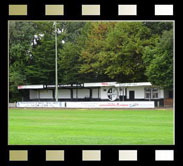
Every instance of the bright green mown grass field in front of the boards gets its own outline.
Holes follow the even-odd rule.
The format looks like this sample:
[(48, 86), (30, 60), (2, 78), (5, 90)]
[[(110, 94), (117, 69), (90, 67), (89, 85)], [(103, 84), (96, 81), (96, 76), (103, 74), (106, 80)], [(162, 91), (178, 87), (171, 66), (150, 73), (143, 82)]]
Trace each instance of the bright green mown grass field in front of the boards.
[(9, 145), (172, 145), (173, 110), (9, 109)]

